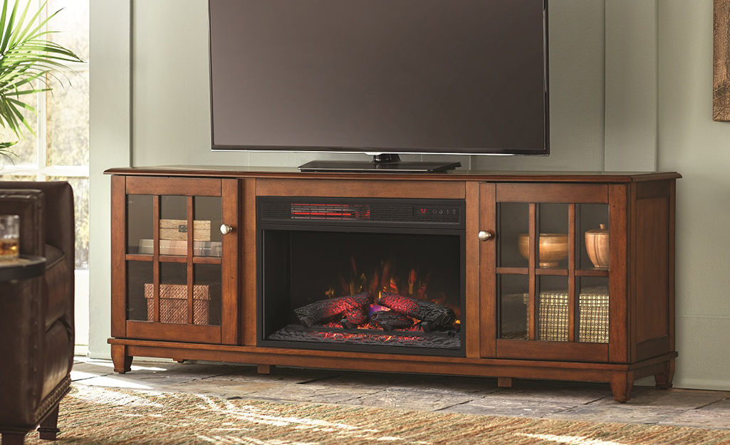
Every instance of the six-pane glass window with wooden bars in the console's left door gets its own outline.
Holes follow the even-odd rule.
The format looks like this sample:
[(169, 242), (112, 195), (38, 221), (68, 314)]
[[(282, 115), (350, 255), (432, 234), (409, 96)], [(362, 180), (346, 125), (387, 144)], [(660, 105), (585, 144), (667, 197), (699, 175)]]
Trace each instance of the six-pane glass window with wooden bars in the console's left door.
[(220, 326), (221, 204), (220, 197), (127, 196), (127, 320)]

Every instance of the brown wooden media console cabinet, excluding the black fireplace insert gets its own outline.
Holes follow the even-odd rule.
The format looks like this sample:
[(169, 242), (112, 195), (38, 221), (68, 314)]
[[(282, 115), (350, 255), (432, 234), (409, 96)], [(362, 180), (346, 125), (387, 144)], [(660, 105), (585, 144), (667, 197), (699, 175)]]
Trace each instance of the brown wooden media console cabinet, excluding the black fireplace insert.
[[(301, 174), (189, 167), (107, 173), (113, 175), (110, 344), (115, 371), (128, 371), (131, 357), (141, 355), (255, 363), (262, 371), (296, 365), (493, 376), (502, 387), (513, 378), (607, 382), (617, 401), (628, 400), (634, 379), (642, 376), (656, 376), (658, 387), (671, 386), (677, 356), (678, 174)], [(259, 207), (261, 198), (284, 200), (290, 203), (285, 212), (292, 209), (283, 220), (269, 223), (277, 229), (269, 234), (264, 223), (257, 223), (269, 212)], [(365, 198), (376, 200), (367, 213)], [(272, 343), (266, 328), (272, 314), (282, 312), (277, 316), (285, 324), (293, 308), (282, 298), (264, 306), (263, 288), (287, 293), (293, 285), (266, 281), (264, 247), (311, 245), (307, 240), (323, 239), (326, 230), (340, 233), (333, 238), (339, 244), (349, 242), (342, 233), (383, 233), (387, 217), (376, 222), (371, 211), (382, 212), (382, 204), (391, 202), (406, 209), (392, 223), (392, 236), (411, 236), (404, 224), (412, 220), (408, 227), (427, 239), (439, 233), (422, 228), (427, 221), (436, 221), (436, 228), (447, 224), (426, 219), (429, 212), (434, 217), (460, 213), (447, 231), (459, 240), (453, 252), (461, 252), (462, 285), (455, 287), (461, 288), (461, 303), (453, 303), (456, 346), (424, 352)], [(439, 205), (420, 204), (429, 202)], [(316, 206), (329, 210), (312, 217), (311, 209), (320, 209)], [(365, 214), (365, 222), (342, 222)], [(307, 225), (292, 225), (305, 217)], [(317, 218), (326, 224), (315, 230)], [(220, 225), (230, 233), (218, 232)], [(179, 231), (171, 235), (169, 228), (176, 226)], [(307, 231), (320, 237), (307, 238)], [(170, 236), (179, 239), (164, 239)], [(174, 245), (181, 246), (179, 252), (170, 250)], [(300, 257), (287, 252), (266, 257), (280, 255), (283, 259), (272, 264), (288, 270), (283, 280), (291, 275), (296, 281), (301, 273), (286, 262)], [(416, 270), (410, 273), (411, 291), (422, 279)], [(394, 273), (391, 282), (398, 284)], [(173, 293), (180, 301), (169, 301)], [(200, 311), (207, 313), (199, 317)]]

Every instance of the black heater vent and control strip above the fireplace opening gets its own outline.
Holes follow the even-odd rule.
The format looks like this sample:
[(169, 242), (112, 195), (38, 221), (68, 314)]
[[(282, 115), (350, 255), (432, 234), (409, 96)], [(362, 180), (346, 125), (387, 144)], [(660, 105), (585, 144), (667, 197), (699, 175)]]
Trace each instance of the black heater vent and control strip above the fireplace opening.
[[(387, 202), (379, 200), (373, 203), (346, 202), (303, 202), (299, 200), (279, 201), (265, 199), (261, 201), (259, 217), (262, 221), (350, 221), (380, 223), (446, 223), (460, 224), (461, 212), (455, 214), (429, 215), (421, 217), (416, 209), (419, 205), (430, 204)], [(394, 200), (395, 201), (395, 200)], [(452, 204), (453, 206), (454, 204)]]

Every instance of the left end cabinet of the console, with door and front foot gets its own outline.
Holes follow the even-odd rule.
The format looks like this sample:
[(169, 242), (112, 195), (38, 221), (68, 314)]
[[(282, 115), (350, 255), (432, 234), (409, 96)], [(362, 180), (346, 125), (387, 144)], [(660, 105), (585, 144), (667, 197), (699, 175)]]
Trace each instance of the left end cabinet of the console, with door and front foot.
[(238, 190), (237, 179), (112, 177), (112, 336), (238, 344)]

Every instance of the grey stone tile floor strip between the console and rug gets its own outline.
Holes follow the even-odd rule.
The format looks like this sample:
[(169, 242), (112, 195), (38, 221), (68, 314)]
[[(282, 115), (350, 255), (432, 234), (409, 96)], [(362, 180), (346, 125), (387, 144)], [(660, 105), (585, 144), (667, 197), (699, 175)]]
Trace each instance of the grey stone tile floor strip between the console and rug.
[(334, 403), (497, 416), (596, 422), (680, 425), (730, 429), (730, 392), (634, 387), (631, 400), (613, 401), (607, 384), (378, 374), (276, 368), (260, 375), (255, 366), (135, 360), (128, 374), (112, 363), (76, 357), (75, 384), (191, 392), (223, 398), (297, 403)]

